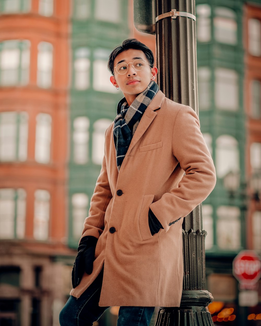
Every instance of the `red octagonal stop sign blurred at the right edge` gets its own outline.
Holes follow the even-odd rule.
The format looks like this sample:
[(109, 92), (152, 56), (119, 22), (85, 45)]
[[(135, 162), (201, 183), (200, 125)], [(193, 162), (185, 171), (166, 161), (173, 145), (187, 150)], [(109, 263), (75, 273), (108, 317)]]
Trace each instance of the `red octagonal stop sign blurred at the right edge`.
[(240, 283), (256, 283), (261, 276), (261, 261), (253, 250), (242, 250), (233, 260), (233, 274)]

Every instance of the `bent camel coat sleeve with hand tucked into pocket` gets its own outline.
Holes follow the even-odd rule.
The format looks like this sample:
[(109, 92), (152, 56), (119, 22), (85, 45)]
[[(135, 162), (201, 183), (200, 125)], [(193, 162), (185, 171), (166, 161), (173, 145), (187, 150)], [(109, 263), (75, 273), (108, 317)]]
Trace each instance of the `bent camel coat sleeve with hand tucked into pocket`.
[(150, 205), (165, 232), (173, 221), (185, 217), (205, 200), (216, 184), (214, 163), (200, 131), (198, 116), (189, 106), (182, 107), (177, 114), (172, 151), (185, 175), (177, 188)]

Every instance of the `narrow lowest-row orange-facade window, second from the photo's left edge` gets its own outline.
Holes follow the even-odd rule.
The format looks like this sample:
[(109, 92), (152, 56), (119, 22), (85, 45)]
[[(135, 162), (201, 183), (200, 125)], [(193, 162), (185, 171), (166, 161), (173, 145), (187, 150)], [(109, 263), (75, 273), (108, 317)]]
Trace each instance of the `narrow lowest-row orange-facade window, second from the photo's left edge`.
[(36, 190), (34, 209), (34, 238), (47, 240), (49, 236), (50, 193)]

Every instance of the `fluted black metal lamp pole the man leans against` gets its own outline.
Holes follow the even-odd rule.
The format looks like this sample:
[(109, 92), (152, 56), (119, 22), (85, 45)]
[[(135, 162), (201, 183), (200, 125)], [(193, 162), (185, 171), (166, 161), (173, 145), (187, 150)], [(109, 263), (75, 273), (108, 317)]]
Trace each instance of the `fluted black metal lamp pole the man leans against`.
[[(172, 9), (195, 15), (194, 0), (156, 0), (155, 5), (156, 17)], [(198, 114), (195, 21), (166, 17), (156, 22), (155, 27), (159, 87), (168, 98), (191, 106)], [(199, 205), (183, 222), (184, 278), (180, 307), (161, 307), (157, 326), (214, 325), (207, 309), (213, 297), (206, 291), (205, 236)]]

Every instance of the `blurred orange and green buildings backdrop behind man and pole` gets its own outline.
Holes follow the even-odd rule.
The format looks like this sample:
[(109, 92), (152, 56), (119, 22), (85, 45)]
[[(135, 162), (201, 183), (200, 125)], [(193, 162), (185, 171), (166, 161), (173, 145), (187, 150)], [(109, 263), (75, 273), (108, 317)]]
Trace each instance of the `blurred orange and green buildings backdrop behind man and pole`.
[[(241, 306), (232, 261), (261, 254), (261, 0), (196, 0), (196, 17), (201, 131), (217, 170), (202, 204), (209, 310), (216, 325), (260, 326), (261, 287)], [(155, 55), (133, 0), (0, 0), (1, 326), (59, 325), (122, 97), (108, 56), (129, 37)]]

